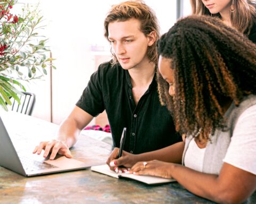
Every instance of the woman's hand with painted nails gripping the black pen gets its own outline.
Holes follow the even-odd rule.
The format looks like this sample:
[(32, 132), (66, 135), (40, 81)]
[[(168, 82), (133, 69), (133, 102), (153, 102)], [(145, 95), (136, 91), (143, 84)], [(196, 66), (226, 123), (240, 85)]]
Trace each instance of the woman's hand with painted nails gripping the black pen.
[[(118, 154), (119, 154), (119, 148), (115, 148), (108, 160), (107, 160), (107, 165), (110, 167), (111, 170), (114, 170), (116, 172), (126, 172), (127, 171), (127, 168), (130, 168), (132, 167), (135, 163), (137, 163), (138, 161), (136, 160), (137, 159), (137, 155), (133, 155), (133, 154), (130, 154), (129, 152), (127, 151), (124, 151), (122, 152), (122, 157), (118, 158)], [(123, 166), (123, 167), (120, 167), (120, 166)], [(126, 170), (126, 171), (125, 171)]]

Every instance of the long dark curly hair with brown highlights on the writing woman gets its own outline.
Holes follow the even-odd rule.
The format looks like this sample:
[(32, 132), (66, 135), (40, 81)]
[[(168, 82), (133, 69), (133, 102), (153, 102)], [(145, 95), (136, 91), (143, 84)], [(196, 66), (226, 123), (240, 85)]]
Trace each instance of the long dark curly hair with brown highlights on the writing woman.
[(256, 46), (218, 18), (191, 15), (180, 19), (157, 42), (158, 55), (170, 60), (175, 95), (157, 71), (158, 93), (174, 117), (177, 131), (209, 139), (225, 129), (223, 106), (239, 105), (256, 94)]

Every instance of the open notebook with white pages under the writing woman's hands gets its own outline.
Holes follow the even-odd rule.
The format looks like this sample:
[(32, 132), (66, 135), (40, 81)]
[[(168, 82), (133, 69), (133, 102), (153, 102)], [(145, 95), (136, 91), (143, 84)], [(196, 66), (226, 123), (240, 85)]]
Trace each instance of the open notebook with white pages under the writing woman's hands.
[(149, 184), (149, 185), (160, 184), (160, 183), (170, 183), (175, 181), (174, 179), (163, 179), (161, 177), (156, 177), (156, 176), (142, 176), (142, 175), (134, 175), (134, 174), (116, 173), (114, 171), (111, 171), (107, 164), (92, 166), (91, 170), (94, 172), (99, 172), (101, 174), (106, 174), (108, 176), (115, 177), (117, 179), (119, 179), (120, 177), (126, 177), (129, 179), (134, 179), (134, 180)]

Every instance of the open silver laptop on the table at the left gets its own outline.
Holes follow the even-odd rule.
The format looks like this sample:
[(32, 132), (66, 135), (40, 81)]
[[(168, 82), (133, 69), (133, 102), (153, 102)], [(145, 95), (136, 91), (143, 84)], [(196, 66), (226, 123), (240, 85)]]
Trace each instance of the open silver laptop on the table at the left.
[[(18, 136), (21, 137), (22, 135)], [(77, 159), (66, 158), (62, 155), (57, 155), (54, 160), (50, 160), (49, 157), (44, 158), (41, 155), (32, 154), (33, 150), (29, 150), (29, 148), (26, 146), (17, 151), (14, 148), (11, 138), (6, 130), (2, 118), (0, 117), (0, 166), (10, 169), (11, 171), (23, 176), (36, 176), (57, 172), (74, 171), (89, 168), (94, 165), (91, 162), (86, 164)]]

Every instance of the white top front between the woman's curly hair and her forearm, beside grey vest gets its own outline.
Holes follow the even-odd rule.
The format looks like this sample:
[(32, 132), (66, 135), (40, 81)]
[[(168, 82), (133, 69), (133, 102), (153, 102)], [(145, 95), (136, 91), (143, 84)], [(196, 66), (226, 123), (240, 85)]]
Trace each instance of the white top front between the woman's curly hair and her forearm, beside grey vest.
[(203, 172), (204, 152), (206, 148), (199, 148), (195, 138), (189, 143), (188, 149), (184, 157), (186, 167), (192, 168), (198, 172)]

